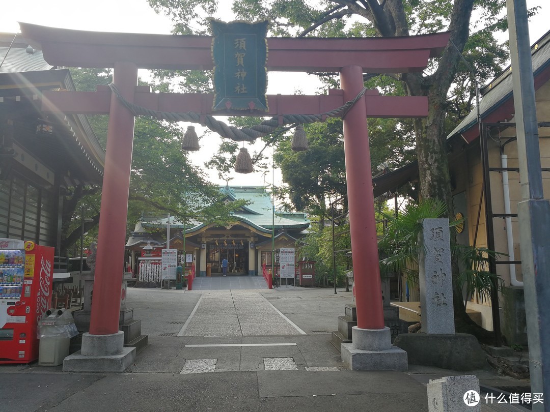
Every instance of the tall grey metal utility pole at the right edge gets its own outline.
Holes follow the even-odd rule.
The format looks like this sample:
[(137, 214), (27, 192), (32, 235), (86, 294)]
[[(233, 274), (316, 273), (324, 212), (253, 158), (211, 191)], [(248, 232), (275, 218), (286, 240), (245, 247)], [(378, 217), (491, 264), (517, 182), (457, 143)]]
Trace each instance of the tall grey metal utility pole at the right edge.
[[(541, 155), (526, 0), (507, 0), (521, 198), (521, 270), (529, 339), (531, 393), (550, 393), (550, 202), (542, 191)], [(546, 302), (546, 303), (545, 303)], [(533, 403), (533, 411), (543, 411)]]

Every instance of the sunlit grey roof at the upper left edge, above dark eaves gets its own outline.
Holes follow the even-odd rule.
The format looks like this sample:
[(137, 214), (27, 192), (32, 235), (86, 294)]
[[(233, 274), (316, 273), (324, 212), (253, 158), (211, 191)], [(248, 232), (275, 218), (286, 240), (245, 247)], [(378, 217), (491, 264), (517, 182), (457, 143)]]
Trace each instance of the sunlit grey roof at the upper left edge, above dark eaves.
[[(42, 51), (32, 48), (20, 34), (12, 44), (14, 36), (13, 33), (0, 33), (0, 62), (5, 57), (4, 63), (0, 67), (0, 73), (50, 70), (54, 67), (46, 63)], [(12, 44), (11, 48), (10, 44)]]

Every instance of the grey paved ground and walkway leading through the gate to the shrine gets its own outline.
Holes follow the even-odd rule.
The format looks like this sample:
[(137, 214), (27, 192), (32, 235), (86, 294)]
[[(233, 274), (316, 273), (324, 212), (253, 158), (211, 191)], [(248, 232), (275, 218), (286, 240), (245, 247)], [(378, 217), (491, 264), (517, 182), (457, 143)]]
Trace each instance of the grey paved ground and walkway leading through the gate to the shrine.
[[(0, 410), (426, 411), (428, 379), (458, 375), (347, 370), (329, 344), (351, 303), (340, 289), (130, 288), (127, 299), (150, 344), (126, 372), (2, 365)], [(489, 368), (475, 374), (491, 386), (518, 384)], [(520, 410), (508, 407), (482, 410)]]

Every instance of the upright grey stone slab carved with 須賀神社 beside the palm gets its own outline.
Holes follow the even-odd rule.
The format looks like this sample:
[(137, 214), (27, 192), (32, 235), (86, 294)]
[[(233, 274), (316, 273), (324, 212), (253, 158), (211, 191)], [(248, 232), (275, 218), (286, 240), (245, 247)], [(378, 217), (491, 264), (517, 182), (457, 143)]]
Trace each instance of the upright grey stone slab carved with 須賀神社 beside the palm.
[(419, 234), (420, 311), (424, 333), (454, 333), (448, 219), (423, 219)]

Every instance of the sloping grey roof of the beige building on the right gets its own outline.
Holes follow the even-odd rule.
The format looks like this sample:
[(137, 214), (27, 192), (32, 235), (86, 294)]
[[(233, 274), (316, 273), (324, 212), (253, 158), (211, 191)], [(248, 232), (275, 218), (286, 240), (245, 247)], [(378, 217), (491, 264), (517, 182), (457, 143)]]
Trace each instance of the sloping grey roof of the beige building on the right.
[[(537, 76), (542, 70), (550, 65), (550, 31), (540, 38), (531, 47), (531, 62), (533, 65), (533, 76)], [(491, 83), (483, 88), (487, 92), (480, 100), (480, 114), (484, 116), (491, 114), (505, 101), (514, 96), (510, 66), (508, 66)], [(460, 135), (477, 123), (477, 112), (472, 110), (455, 129), (449, 133), (447, 138)]]

